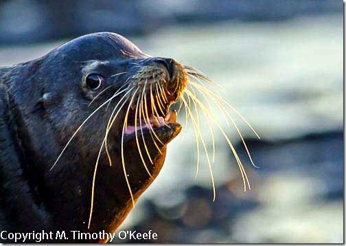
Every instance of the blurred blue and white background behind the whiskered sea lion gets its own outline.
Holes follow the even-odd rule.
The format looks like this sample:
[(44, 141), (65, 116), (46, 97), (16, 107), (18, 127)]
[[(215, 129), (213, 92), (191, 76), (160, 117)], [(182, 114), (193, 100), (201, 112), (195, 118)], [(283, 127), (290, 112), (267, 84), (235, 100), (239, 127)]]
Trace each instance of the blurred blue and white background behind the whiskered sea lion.
[[(231, 150), (216, 135), (213, 202), (203, 157), (194, 179), (188, 127), (119, 230), (153, 230), (152, 243), (343, 243), (342, 1), (2, 0), (0, 66), (101, 31), (200, 69), (262, 137), (234, 116), (254, 168), (235, 128), (218, 115), (251, 191), (243, 191)], [(184, 112), (178, 120), (185, 122)]]

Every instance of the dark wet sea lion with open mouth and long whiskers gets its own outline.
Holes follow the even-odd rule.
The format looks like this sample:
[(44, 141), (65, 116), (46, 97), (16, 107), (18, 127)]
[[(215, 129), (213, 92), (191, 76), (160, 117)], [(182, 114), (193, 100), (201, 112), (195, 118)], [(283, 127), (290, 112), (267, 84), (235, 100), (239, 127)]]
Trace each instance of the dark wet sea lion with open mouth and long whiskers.
[(186, 83), (110, 32), (0, 68), (0, 231), (115, 232), (181, 131), (169, 109)]

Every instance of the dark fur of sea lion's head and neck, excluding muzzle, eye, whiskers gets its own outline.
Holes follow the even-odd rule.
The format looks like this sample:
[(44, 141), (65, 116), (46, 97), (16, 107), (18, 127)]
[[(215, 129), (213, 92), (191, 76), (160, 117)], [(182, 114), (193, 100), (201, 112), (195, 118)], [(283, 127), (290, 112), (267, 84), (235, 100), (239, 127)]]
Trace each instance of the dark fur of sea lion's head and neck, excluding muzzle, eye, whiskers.
[[(100, 157), (93, 217), (87, 228), (97, 153), (108, 118), (121, 96), (112, 100), (108, 111), (101, 109), (93, 115), (56, 166), (50, 168), (83, 120), (124, 85), (128, 76), (139, 71), (131, 64), (134, 62), (167, 69), (172, 88), (176, 78), (182, 76), (181, 67), (174, 60), (152, 58), (126, 38), (106, 32), (76, 38), (41, 58), (0, 69), (0, 230), (114, 232), (124, 221), (132, 209), (120, 155), (125, 108), (108, 137), (113, 166), (109, 166), (105, 151)], [(85, 90), (82, 85), (85, 73), (91, 72), (91, 64), (95, 65), (93, 72), (103, 74), (111, 89), (88, 107), (100, 92)], [(127, 74), (111, 77), (123, 71)], [(185, 86), (183, 77), (180, 89)], [(173, 102), (178, 94), (172, 97)], [(148, 129), (143, 131), (154, 159), (152, 165), (146, 157), (153, 178), (141, 163), (135, 137), (125, 138), (126, 171), (135, 200), (157, 177), (166, 144), (181, 131), (179, 124), (169, 126), (155, 129), (165, 143), (160, 144), (162, 154)], [(144, 153), (143, 143), (141, 148)], [(69, 240), (61, 243), (78, 242), (71, 234), (68, 236)]]

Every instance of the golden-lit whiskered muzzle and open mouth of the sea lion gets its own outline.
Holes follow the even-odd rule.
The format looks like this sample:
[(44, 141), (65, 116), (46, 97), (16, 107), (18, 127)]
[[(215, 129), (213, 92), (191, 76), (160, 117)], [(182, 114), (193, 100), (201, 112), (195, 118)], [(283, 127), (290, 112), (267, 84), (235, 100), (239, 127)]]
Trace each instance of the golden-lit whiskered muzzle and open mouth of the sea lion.
[[(169, 66), (146, 66), (135, 76), (132, 88), (137, 90), (132, 94), (124, 135), (138, 135), (138, 132), (149, 131), (152, 135), (158, 128), (169, 130), (181, 124), (177, 122), (175, 110), (170, 112), (170, 106), (181, 96), (186, 84), (185, 69), (178, 63)], [(161, 144), (165, 144), (161, 142)]]

